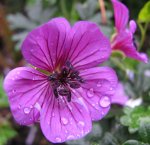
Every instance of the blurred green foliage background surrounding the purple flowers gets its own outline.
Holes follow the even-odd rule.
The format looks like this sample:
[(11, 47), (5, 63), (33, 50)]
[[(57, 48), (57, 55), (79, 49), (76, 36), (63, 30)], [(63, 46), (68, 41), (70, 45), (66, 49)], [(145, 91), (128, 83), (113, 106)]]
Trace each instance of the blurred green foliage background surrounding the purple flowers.
[[(138, 23), (139, 51), (150, 56), (150, 1), (122, 1), (130, 18)], [(108, 37), (114, 32), (113, 10), (105, 0), (107, 24), (103, 25), (97, 0), (1, 0), (0, 1), (0, 145), (53, 145), (39, 125), (15, 124), (2, 87), (9, 70), (25, 65), (20, 45), (29, 31), (53, 17), (66, 17), (72, 24), (90, 20), (99, 24)], [(112, 105), (110, 113), (93, 123), (86, 137), (62, 145), (150, 145), (150, 64), (113, 55), (109, 62), (117, 72), (130, 99), (128, 106)], [(133, 104), (140, 102), (135, 107)]]

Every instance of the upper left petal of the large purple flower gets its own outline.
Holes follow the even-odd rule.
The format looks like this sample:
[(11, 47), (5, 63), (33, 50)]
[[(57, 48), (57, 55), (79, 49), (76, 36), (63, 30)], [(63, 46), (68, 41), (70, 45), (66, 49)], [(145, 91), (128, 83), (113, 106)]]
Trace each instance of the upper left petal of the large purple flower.
[(55, 18), (31, 31), (22, 45), (28, 63), (47, 71), (57, 67), (63, 58), (64, 44), (70, 24), (64, 18)]

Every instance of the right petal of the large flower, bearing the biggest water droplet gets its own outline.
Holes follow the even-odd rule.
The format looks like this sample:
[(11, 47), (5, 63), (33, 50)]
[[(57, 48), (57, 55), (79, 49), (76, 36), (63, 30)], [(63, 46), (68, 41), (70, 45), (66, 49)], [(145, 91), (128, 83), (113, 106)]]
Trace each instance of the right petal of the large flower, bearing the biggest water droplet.
[(84, 91), (80, 91), (80, 95), (90, 110), (92, 120), (100, 120), (110, 109), (111, 96), (117, 86), (116, 73), (108, 67), (97, 67), (81, 71), (80, 75), (85, 80), (82, 85)]

